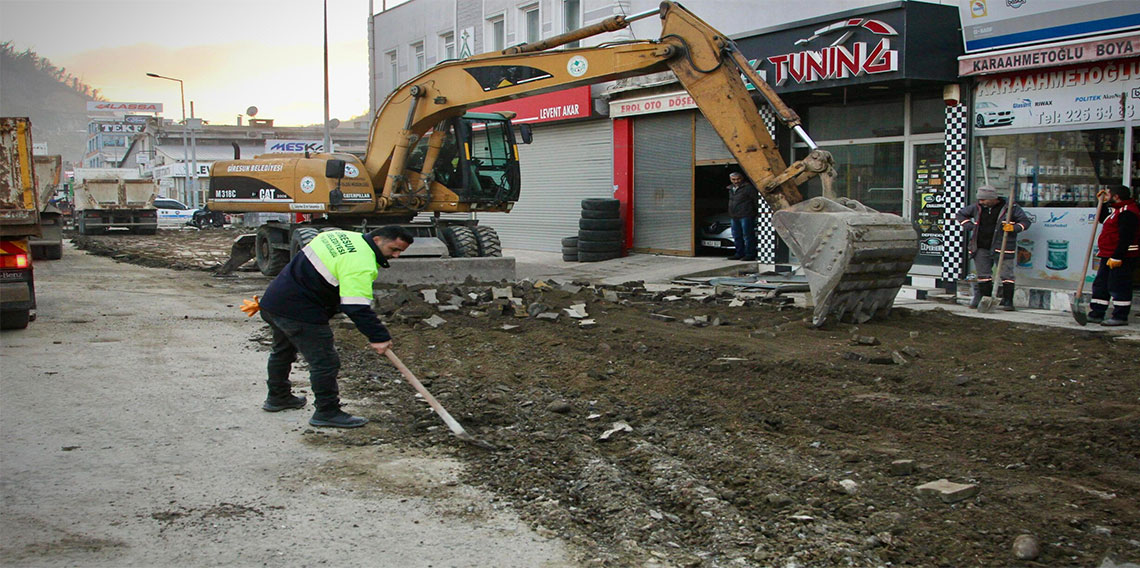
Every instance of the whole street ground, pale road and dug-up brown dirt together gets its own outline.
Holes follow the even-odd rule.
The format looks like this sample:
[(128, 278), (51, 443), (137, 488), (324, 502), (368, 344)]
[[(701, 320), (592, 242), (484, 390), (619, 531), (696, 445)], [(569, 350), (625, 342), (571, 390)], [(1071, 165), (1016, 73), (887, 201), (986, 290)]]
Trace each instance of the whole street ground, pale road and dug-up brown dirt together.
[[(347, 322), (334, 323), (342, 395), (373, 422), (307, 433), (302, 415), (262, 415), (250, 404), (261, 396), (263, 355), (251, 350), (261, 347), (261, 326), (218, 305), (264, 279), (244, 273), (219, 283), (173, 260), (172, 251), (205, 238), (99, 237), (89, 245), (103, 254), (190, 270), (84, 263), (103, 286), (130, 295), (111, 291), (114, 307), (100, 309), (88, 302), (101, 292), (73, 279), (54, 301), (74, 300), (83, 315), (33, 324), (62, 341), (47, 349), (93, 357), (64, 372), (25, 354), (15, 360), (26, 371), (15, 376), (35, 381), (5, 375), (2, 425), (18, 438), (5, 441), (0, 473), (6, 511), (19, 516), (5, 516), (2, 528), (23, 536), (16, 558), (35, 558), (47, 543), (78, 549), (83, 560), (121, 560), (121, 550), (149, 550), (139, 538), (176, 550), (162, 542), (170, 538), (181, 552), (164, 558), (260, 563), (279, 538), (315, 533), (350, 553), (388, 533), (333, 541), (342, 534), (324, 516), (357, 522), (378, 510), (389, 519), (399, 496), (415, 505), (406, 513), (420, 520), (415, 528), (441, 527), (402, 539), (455, 530), (426, 541), (427, 550), (449, 551), (437, 557), (445, 563), (474, 558), (461, 555), (466, 544), (447, 549), (453, 542), (472, 543), (471, 554), (482, 554), (472, 565), (486, 566), (1140, 562), (1140, 343), (1123, 335), (939, 309), (816, 330), (799, 308), (616, 284), (617, 274), (606, 286), (532, 279), (381, 290), (376, 309), (400, 357), (470, 431), (500, 448), (488, 453), (450, 437)], [(141, 284), (112, 281), (113, 270)], [(142, 302), (152, 311), (130, 309)], [(581, 313), (593, 323), (583, 325)], [(106, 357), (125, 357), (111, 341), (136, 335), (138, 358)], [(13, 350), (5, 348), (6, 362)], [(68, 468), (80, 457), (90, 462)], [(83, 485), (90, 471), (103, 489)], [(919, 490), (943, 479), (959, 487)], [(448, 497), (431, 498), (438, 490)], [(55, 503), (47, 521), (38, 501)], [(104, 522), (88, 524), (87, 511)], [(508, 511), (565, 549), (494, 514)], [(135, 538), (130, 546), (123, 535)], [(237, 547), (249, 543), (256, 550)], [(514, 544), (529, 555), (515, 557)], [(518, 559), (488, 557), (497, 552)]]

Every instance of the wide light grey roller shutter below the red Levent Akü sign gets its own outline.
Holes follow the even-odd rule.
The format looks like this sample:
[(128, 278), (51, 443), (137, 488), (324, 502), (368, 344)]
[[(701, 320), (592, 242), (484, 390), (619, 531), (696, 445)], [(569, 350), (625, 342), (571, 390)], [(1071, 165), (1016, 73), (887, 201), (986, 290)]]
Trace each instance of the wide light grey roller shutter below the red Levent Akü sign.
[(505, 249), (559, 252), (578, 236), (581, 200), (613, 197), (613, 127), (609, 120), (536, 124), (519, 145), (522, 192), (510, 213), (480, 213)]

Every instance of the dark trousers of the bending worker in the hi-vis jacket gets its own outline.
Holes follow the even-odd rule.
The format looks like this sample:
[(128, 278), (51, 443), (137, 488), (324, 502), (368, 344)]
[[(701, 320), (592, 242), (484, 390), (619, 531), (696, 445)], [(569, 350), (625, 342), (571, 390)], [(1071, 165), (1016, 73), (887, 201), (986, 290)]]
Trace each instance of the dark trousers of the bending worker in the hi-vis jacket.
[(335, 412), (340, 408), (340, 390), (336, 374), (341, 370), (341, 358), (333, 342), (333, 328), (328, 324), (310, 324), (261, 310), (261, 318), (274, 331), (272, 351), (269, 354), (269, 398), (280, 399), (290, 395), (288, 373), (296, 360), (298, 351), (309, 364), (309, 382), (312, 386), (314, 406), (317, 412)]

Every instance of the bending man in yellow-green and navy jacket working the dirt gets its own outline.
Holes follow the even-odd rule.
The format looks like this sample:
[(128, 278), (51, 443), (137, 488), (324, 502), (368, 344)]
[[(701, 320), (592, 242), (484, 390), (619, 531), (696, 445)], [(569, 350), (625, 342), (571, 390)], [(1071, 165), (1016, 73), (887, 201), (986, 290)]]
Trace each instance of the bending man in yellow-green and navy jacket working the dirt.
[(397, 226), (361, 234), (349, 230), (320, 233), (277, 275), (264, 298), (242, 307), (252, 316), (260, 308), (261, 318), (274, 333), (266, 381), (269, 397), (266, 412), (303, 408), (304, 397), (292, 393), (288, 374), (296, 354), (309, 364), (316, 412), (309, 424), (331, 428), (359, 428), (368, 419), (341, 409), (336, 375), (341, 359), (333, 343), (328, 319), (337, 311), (352, 319), (372, 348), (384, 355), (392, 344), (388, 328), (372, 310), (372, 284), (378, 267), (388, 268), (412, 244), (414, 237)]

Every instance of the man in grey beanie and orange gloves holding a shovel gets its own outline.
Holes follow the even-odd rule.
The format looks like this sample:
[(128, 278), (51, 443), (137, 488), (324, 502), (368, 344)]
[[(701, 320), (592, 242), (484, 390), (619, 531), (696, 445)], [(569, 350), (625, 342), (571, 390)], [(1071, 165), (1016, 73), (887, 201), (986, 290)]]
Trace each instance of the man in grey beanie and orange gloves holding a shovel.
[[(958, 222), (971, 232), (970, 257), (978, 274), (978, 291), (970, 300), (977, 308), (983, 298), (994, 292), (994, 262), (1001, 267), (1001, 309), (1013, 311), (1013, 265), (1017, 234), (1029, 228), (1029, 216), (1017, 203), (997, 196), (992, 185), (978, 187), (977, 202), (958, 212)], [(1004, 251), (1002, 248), (1004, 246)]]

